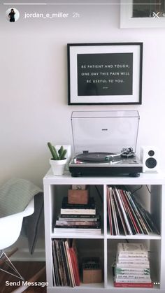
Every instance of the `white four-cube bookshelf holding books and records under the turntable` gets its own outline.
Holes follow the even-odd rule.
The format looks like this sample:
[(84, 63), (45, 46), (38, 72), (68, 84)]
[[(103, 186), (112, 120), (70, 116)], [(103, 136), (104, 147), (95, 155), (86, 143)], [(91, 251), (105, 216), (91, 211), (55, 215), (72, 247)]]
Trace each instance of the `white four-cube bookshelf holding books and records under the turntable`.
[[(67, 190), (71, 185), (89, 185), (91, 195), (95, 196), (96, 208), (101, 210), (102, 233), (101, 235), (64, 234), (54, 233), (53, 226), (55, 218), (59, 214), (59, 208), (63, 196), (67, 196)], [(95, 185), (99, 188), (103, 202), (96, 192)], [(138, 191), (142, 201), (149, 208), (150, 213), (155, 218), (155, 224), (160, 228), (160, 235), (134, 235), (134, 236), (111, 236), (108, 231), (106, 189), (107, 185), (130, 185), (131, 188), (143, 185)], [(150, 193), (145, 186), (150, 187)], [(78, 290), (78, 293), (96, 292), (165, 292), (165, 176), (164, 174), (141, 173), (138, 178), (131, 177), (80, 177), (73, 178), (66, 172), (64, 176), (53, 176), (51, 170), (43, 178), (44, 186), (44, 210), (45, 210), (45, 256), (46, 275), (48, 281), (47, 292), (65, 293)], [(80, 246), (80, 253), (84, 256), (100, 256), (103, 269), (103, 283), (83, 284), (78, 287), (56, 287), (52, 281), (52, 239), (53, 238), (76, 238), (77, 245)], [(150, 250), (150, 263), (153, 288), (115, 288), (113, 287), (113, 277), (111, 265), (115, 257), (118, 242), (125, 240), (130, 242), (143, 242)]]

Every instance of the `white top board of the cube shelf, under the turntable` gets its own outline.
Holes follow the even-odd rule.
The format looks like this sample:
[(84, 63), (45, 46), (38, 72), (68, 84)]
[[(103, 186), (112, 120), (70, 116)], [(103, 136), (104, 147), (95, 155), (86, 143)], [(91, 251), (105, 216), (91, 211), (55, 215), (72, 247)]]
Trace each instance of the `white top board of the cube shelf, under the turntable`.
[(95, 177), (71, 177), (69, 171), (65, 171), (63, 176), (55, 176), (51, 169), (45, 174), (43, 184), (63, 185), (63, 184), (90, 184), (90, 185), (165, 185), (164, 173), (141, 173), (139, 177), (129, 176), (95, 176)]

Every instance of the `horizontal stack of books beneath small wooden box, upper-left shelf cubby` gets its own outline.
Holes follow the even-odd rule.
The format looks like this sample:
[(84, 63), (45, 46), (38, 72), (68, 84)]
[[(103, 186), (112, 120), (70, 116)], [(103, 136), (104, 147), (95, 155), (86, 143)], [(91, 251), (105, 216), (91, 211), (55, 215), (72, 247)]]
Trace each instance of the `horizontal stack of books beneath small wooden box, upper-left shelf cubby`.
[(78, 204), (68, 203), (68, 197), (64, 197), (54, 232), (101, 234), (100, 215), (96, 214), (94, 198), (89, 197), (86, 204)]

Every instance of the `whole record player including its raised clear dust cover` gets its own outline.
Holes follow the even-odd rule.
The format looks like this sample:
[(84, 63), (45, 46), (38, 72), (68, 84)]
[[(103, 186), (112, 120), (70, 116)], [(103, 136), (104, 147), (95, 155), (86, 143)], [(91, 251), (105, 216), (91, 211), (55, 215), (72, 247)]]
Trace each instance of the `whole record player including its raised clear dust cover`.
[(71, 176), (139, 176), (138, 111), (75, 111)]

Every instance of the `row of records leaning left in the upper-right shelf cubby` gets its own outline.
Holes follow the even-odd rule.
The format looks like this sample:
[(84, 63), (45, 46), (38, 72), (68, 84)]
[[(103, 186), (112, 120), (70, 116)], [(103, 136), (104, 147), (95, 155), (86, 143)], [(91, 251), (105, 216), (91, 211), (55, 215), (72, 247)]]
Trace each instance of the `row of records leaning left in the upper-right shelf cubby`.
[(120, 187), (107, 187), (110, 235), (159, 234), (148, 210), (134, 194)]

